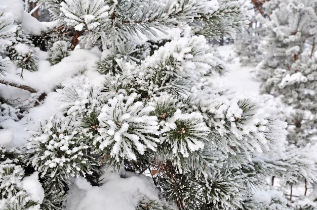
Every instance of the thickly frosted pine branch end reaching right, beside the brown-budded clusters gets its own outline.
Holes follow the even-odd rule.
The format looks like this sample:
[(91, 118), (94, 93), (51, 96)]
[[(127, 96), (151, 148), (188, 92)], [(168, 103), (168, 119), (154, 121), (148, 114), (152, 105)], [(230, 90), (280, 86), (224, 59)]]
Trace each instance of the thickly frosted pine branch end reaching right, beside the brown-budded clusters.
[(285, 138), (286, 123), (280, 120), (281, 113), (268, 95), (246, 98), (228, 90), (206, 89), (195, 95), (191, 103), (203, 113), (212, 132), (223, 137), (215, 141), (223, 152), (230, 147), (245, 152), (272, 152), (276, 146), (283, 147), (283, 142), (273, 139)]

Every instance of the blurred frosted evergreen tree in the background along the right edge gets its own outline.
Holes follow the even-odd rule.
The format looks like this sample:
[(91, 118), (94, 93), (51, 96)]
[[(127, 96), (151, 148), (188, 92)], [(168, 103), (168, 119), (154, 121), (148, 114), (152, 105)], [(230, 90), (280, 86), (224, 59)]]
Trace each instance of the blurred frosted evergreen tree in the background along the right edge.
[[(261, 46), (264, 60), (257, 74), (263, 82), (262, 92), (279, 97), (283, 102), (290, 143), (287, 150), (289, 156), (294, 156), (295, 165), (305, 165), (307, 159), (298, 155), (310, 154), (315, 148), (308, 144), (316, 143), (316, 5), (316, 1), (271, 0), (264, 5), (270, 19), (262, 19), (267, 35)], [(313, 157), (310, 155), (311, 160)], [(289, 184), (301, 183), (308, 195), (306, 179), (304, 176), (290, 180)], [(315, 207), (302, 197), (292, 205), (295, 209)]]

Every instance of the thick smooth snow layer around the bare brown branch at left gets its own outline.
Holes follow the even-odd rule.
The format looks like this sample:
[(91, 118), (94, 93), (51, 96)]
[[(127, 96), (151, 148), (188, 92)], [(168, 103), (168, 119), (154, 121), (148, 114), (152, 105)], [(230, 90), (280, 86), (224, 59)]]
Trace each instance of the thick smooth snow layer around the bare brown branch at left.
[[(23, 50), (23, 45), (19, 46), (19, 49)], [(61, 111), (57, 109), (58, 101), (56, 100), (57, 97), (60, 97), (60, 94), (53, 92), (57, 85), (68, 84), (81, 74), (87, 76), (93, 84), (101, 85), (103, 83), (104, 78), (94, 68), (95, 62), (100, 56), (101, 52), (97, 48), (91, 50), (76, 49), (60, 63), (51, 66), (49, 61), (46, 61), (48, 54), (39, 51), (38, 71), (29, 72), (24, 70), (23, 80), (17, 75), (20, 70), (14, 65), (11, 66), (6, 72), (7, 81), (28, 85), (37, 89), (39, 93), (47, 93), (47, 97), (42, 101), (42, 104), (31, 108), (20, 121), (6, 120), (1, 123), (4, 129), (13, 132), (11, 146), (24, 145), (30, 135), (29, 131), (37, 130), (39, 123), (43, 123), (45, 119), (49, 119), (52, 115), (62, 116)], [(2, 89), (6, 89), (2, 95), (5, 98), (19, 98), (23, 101), (30, 97), (30, 93), (26, 90), (0, 84), (0, 90)], [(0, 135), (0, 137), (2, 136)], [(10, 138), (8, 139), (10, 140)]]

